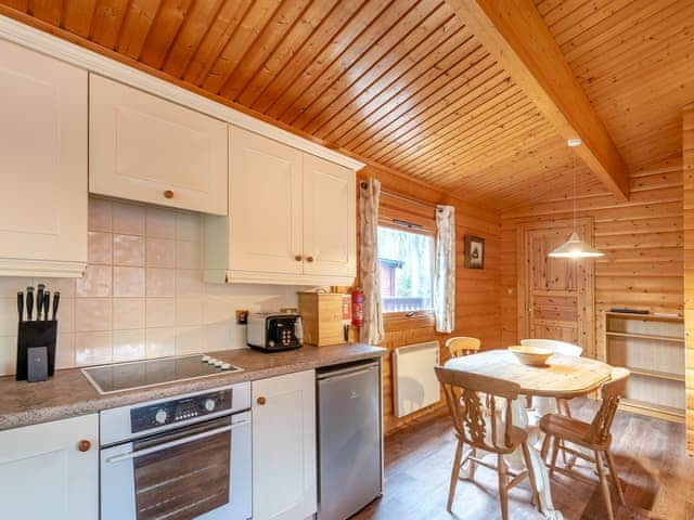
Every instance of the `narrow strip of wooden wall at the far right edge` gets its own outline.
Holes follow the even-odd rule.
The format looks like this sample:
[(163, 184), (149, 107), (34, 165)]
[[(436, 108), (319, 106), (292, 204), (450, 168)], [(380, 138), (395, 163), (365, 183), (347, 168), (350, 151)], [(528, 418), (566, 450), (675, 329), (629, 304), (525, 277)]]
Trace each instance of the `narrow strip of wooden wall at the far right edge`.
[(686, 451), (694, 455), (694, 104), (682, 112)]

